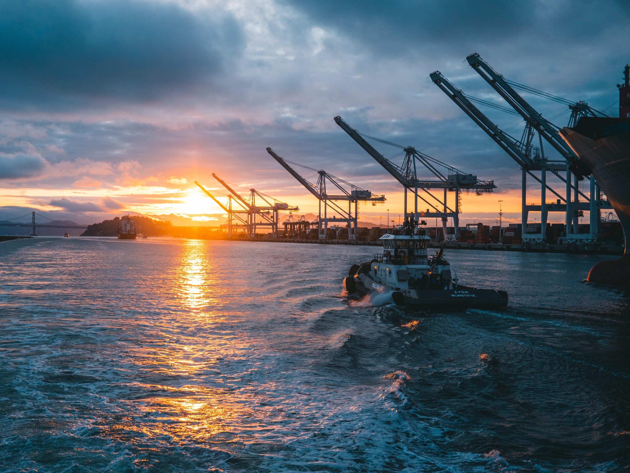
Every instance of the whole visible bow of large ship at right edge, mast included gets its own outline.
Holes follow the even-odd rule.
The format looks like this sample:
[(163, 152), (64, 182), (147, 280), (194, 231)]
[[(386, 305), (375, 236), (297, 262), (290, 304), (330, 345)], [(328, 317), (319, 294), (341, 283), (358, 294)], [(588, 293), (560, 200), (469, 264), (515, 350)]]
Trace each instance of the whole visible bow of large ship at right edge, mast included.
[(590, 170), (604, 191), (624, 230), (625, 249), (621, 259), (602, 261), (588, 272), (587, 281), (630, 286), (630, 66), (624, 70), (619, 88), (619, 118), (582, 117), (560, 136)]

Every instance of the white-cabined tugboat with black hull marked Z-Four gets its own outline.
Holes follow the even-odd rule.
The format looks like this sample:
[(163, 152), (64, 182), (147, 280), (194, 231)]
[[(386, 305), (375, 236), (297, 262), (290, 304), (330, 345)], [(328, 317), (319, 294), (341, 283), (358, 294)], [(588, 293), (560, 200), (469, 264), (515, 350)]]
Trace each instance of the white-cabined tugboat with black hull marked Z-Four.
[(428, 255), (431, 238), (411, 217), (379, 240), (383, 242), (382, 254), (350, 267), (345, 279), (348, 295), (391, 293), (396, 305), (420, 310), (499, 308), (508, 303), (505, 291), (459, 284), (457, 272), (443, 257), (444, 248), (437, 255)]

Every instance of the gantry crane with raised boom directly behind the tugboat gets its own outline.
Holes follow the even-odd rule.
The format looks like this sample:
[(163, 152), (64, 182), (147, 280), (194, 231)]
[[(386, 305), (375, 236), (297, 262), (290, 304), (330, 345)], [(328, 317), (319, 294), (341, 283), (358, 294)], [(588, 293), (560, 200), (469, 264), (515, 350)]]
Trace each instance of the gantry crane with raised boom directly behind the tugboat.
[[(453, 219), (453, 225), (455, 228), (454, 238), (459, 238), (459, 213), (461, 213), (460, 191), (461, 190), (474, 190), (476, 194), (483, 194), (486, 192), (492, 192), (496, 188), (493, 181), (482, 181), (477, 176), (472, 174), (466, 174), (453, 166), (449, 166), (442, 161), (438, 161), (431, 156), (420, 153), (413, 146), (402, 146), (401, 144), (391, 143), (384, 139), (376, 138), (358, 132), (350, 127), (341, 117), (335, 117), (335, 123), (338, 124), (343, 131), (347, 132), (354, 141), (358, 143), (361, 148), (365, 149), (367, 153), (374, 158), (377, 163), (383, 166), (387, 172), (389, 172), (400, 184), (404, 187), (404, 217), (409, 216), (417, 221), (419, 218), (440, 218), (442, 219), (442, 231), (444, 232), (444, 238), (447, 239), (447, 221), (448, 218)], [(365, 138), (373, 139), (379, 143), (389, 144), (395, 148), (402, 149), (404, 151), (403, 164), (401, 166), (396, 165), (391, 160), (385, 158), (374, 146), (368, 143)], [(418, 172), (416, 163), (420, 163), (421, 166), (427, 168), (430, 173), (437, 178), (437, 180), (420, 180), (418, 178)], [(444, 168), (444, 172), (440, 171), (440, 168)], [(430, 201), (418, 194), (418, 189), (423, 190), (428, 194)], [(444, 190), (444, 200), (440, 200), (438, 197), (431, 193), (433, 189)], [(410, 190), (413, 193), (414, 206), (413, 213), (407, 211), (407, 191)], [(455, 208), (452, 209), (447, 204), (447, 191), (455, 192)], [(418, 199), (424, 201), (430, 208), (426, 212), (418, 212)], [(440, 208), (438, 208), (440, 207)], [(432, 211), (433, 209), (433, 211)]]

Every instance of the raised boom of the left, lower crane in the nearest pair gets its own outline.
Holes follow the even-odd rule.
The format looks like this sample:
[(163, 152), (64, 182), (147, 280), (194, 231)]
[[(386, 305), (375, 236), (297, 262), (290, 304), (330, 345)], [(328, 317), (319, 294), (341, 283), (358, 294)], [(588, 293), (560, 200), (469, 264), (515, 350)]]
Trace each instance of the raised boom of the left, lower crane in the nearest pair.
[(479, 108), (475, 107), (473, 103), (466, 98), (466, 95), (452, 85), (448, 79), (442, 76), (440, 71), (433, 71), (430, 75), (431, 80), (437, 85), (449, 98), (459, 106), (464, 113), (471, 117), (478, 126), (485, 131), (496, 143), (503, 148), (503, 150), (515, 160), (519, 166), (525, 170), (532, 168), (534, 165), (531, 158), (525, 155), (524, 151), (518, 146), (517, 143), (503, 132), (498, 126), (496, 126), (486, 115), (484, 115)]

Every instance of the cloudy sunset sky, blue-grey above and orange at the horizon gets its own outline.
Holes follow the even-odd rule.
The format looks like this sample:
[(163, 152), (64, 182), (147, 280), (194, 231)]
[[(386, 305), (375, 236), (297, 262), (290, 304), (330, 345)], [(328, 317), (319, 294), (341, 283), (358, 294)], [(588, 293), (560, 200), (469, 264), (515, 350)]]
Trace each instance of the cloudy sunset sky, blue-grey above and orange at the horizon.
[[(463, 196), (462, 224), (494, 224), (500, 200), (503, 225), (516, 223), (517, 164), (428, 75), (501, 103), (466, 62), (478, 52), (505, 78), (617, 116), (629, 33), (621, 0), (4, 0), (0, 219), (35, 209), (77, 223), (131, 212), (210, 225), (222, 210), (194, 182), (224, 199), (213, 172), (316, 213), (267, 146), (386, 195), (360, 219), (401, 213), (401, 187), (336, 126), (341, 115), (494, 180), (493, 194)], [(566, 105), (524, 97), (566, 126)], [(520, 136), (518, 117), (482, 110)], [(529, 195), (539, 202), (533, 184)]]

